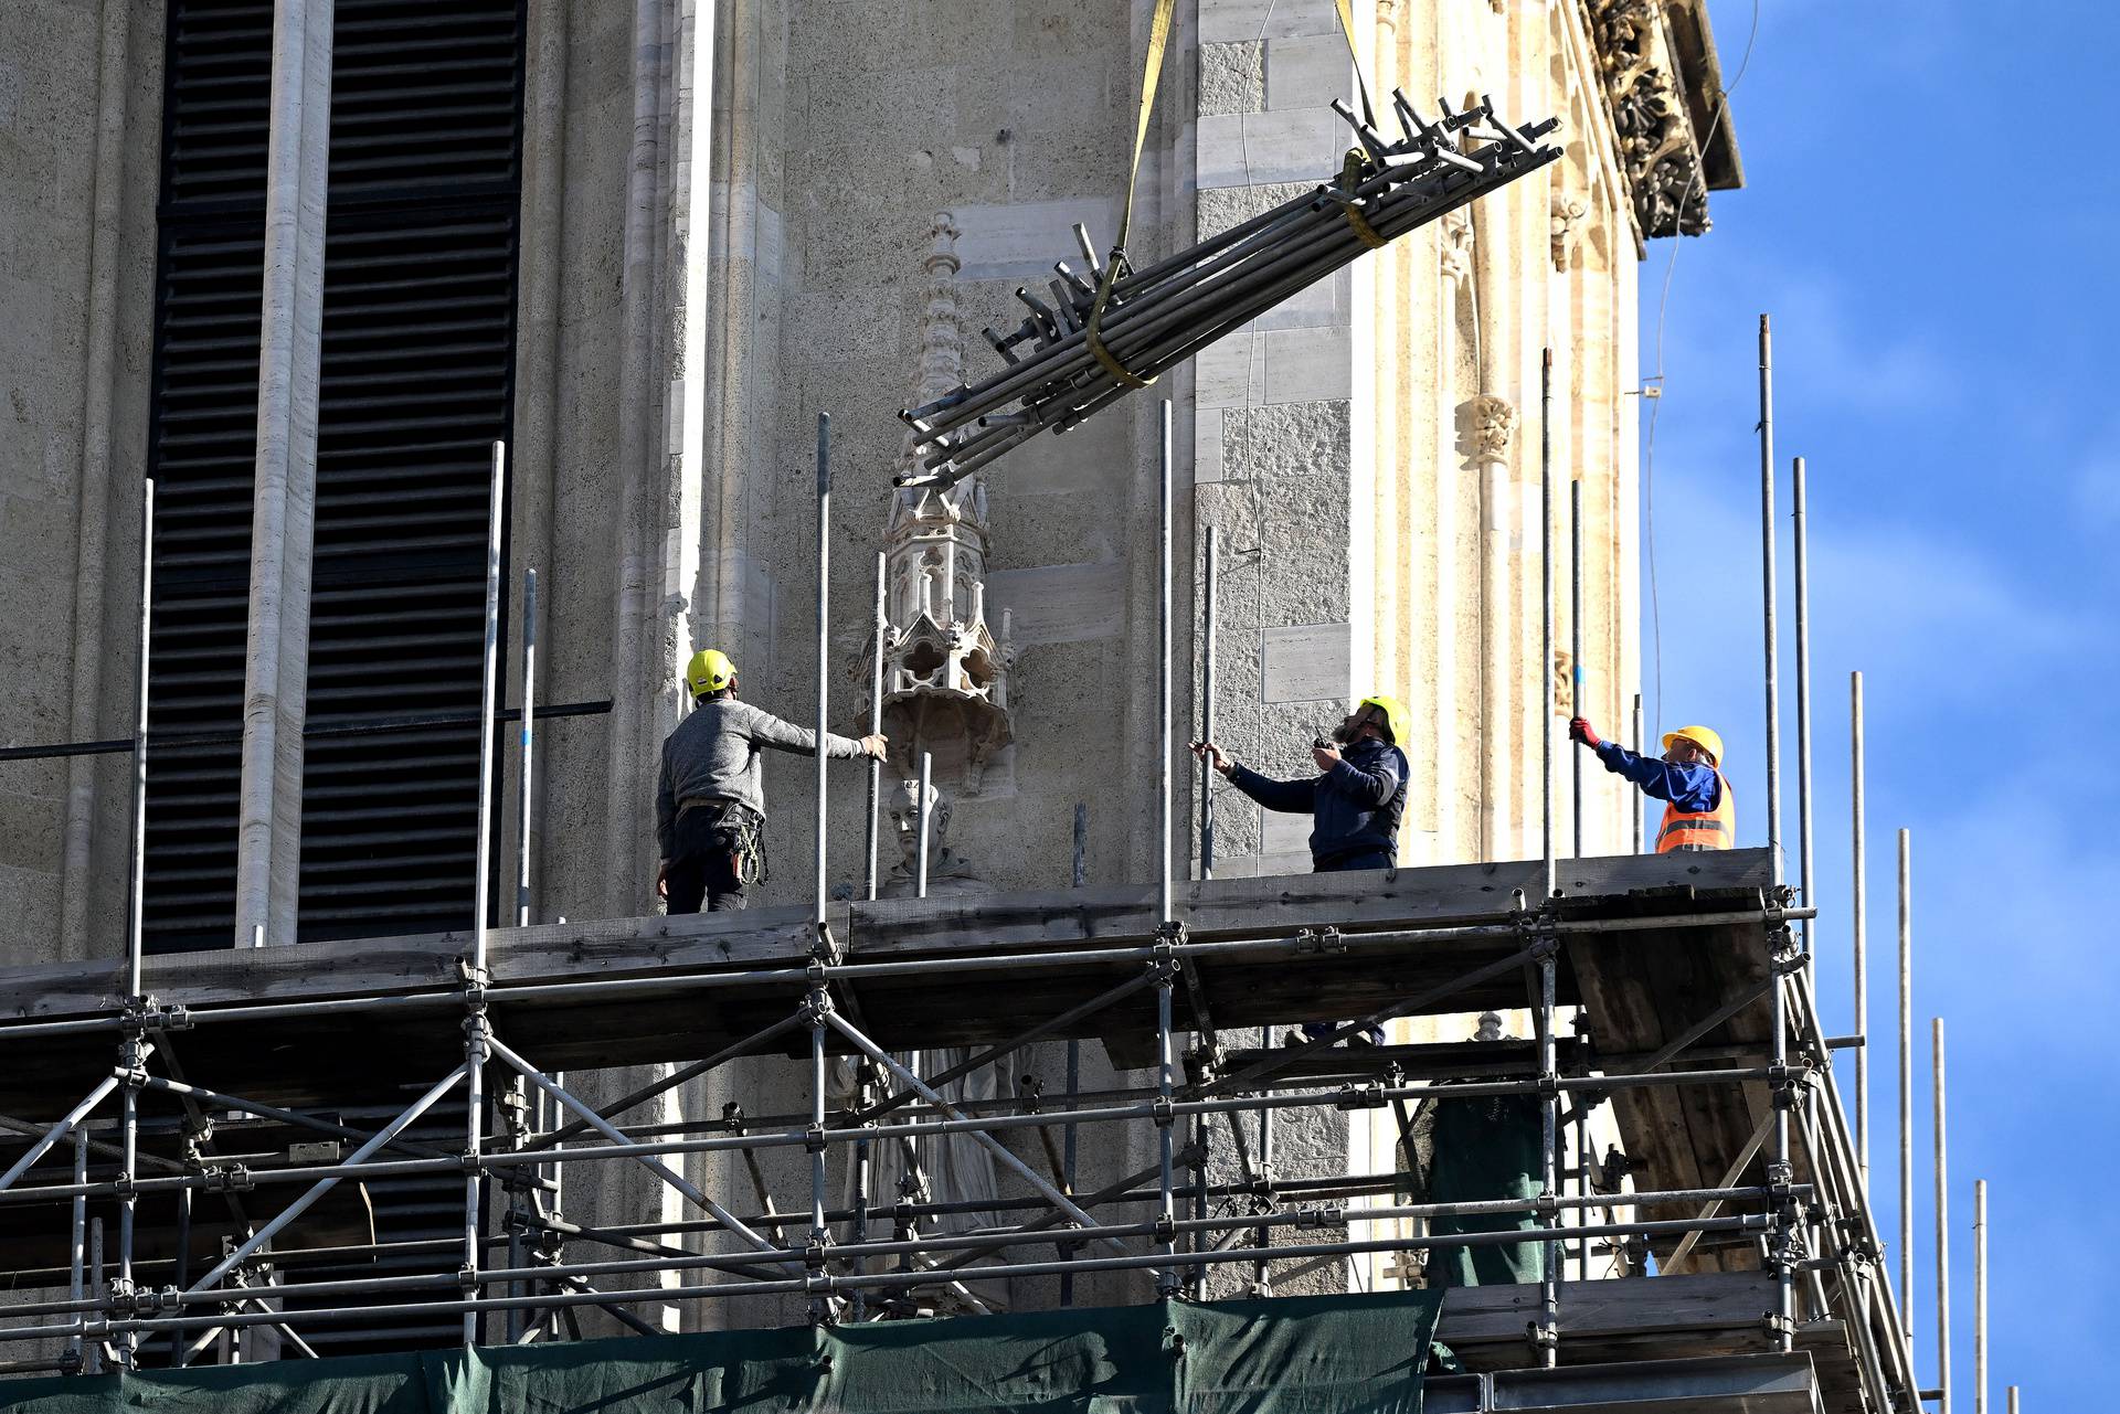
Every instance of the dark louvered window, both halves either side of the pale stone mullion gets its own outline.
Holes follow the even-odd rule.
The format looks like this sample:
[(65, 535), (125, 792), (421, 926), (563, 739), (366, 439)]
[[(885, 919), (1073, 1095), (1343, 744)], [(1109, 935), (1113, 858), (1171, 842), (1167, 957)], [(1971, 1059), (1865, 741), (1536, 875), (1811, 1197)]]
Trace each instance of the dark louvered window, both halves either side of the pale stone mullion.
[[(155, 952), (233, 941), (269, 0), (172, 0), (153, 473)], [(339, 0), (301, 937), (471, 922), (488, 445), (515, 375), (519, 0)]]

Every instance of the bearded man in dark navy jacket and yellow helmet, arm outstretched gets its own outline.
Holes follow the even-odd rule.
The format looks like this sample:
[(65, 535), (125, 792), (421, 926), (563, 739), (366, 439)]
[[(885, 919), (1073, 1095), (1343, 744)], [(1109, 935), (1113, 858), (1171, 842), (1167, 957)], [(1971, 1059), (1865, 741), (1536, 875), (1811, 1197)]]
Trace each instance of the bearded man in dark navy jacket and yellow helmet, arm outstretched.
[[(1319, 776), (1310, 780), (1261, 776), (1225, 757), (1215, 742), (1194, 742), (1191, 748), (1259, 806), (1310, 816), (1314, 873), (1391, 869), (1399, 861), (1399, 816), (1406, 814), (1408, 767), (1399, 736), (1408, 725), (1397, 697), (1363, 697), (1331, 742), (1310, 742), (1310, 759), (1319, 765)], [(1312, 1039), (1331, 1030), (1314, 1022), (1304, 1026)], [(1367, 1039), (1382, 1045), (1382, 1026), (1367, 1028)]]

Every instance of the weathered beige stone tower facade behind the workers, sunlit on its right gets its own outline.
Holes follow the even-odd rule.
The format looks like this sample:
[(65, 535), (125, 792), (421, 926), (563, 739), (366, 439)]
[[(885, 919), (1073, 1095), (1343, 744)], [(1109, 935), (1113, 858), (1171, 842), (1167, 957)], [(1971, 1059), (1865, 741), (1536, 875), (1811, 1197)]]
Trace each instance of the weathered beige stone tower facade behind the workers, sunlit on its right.
[[(161, 15), (102, 0), (91, 25), (87, 8), (0, 11), (0, 303), (15, 314), (0, 331), (0, 731), (15, 742), (123, 736), (131, 710)], [(1329, 110), (1355, 85), (1333, 0), (1179, 11), (1136, 263), (1321, 180), (1348, 140)], [(903, 447), (893, 413), (933, 352), (935, 212), (956, 231), (962, 326), (1013, 324), (1013, 288), (1073, 252), (1071, 223), (1117, 227), (1149, 13), (1149, 0), (528, 0), (511, 583), (541, 572), (543, 695), (617, 704), (608, 721), (541, 731), (536, 918), (653, 909), (657, 746), (693, 649), (729, 651), (746, 697), (812, 714), (818, 413), (833, 418), (835, 464), (831, 719), (865, 729), (873, 555)], [(1079, 801), (1090, 882), (1153, 869), (1160, 396), (1179, 428), (1179, 721), (1200, 712), (1198, 562), (1217, 526), (1223, 744), (1297, 772), (1319, 725), (1395, 693), (1418, 725), (1401, 861), (1531, 856), (1541, 738), (1558, 731), (1541, 702), (1554, 666), (1537, 661), (1550, 346), (1560, 515), (1567, 477), (1584, 483), (1586, 708), (1628, 717), (1637, 257), (1643, 237), (1704, 225), (1694, 187), (1736, 180), (1730, 127), (1709, 131), (1702, 104), (1717, 93), (1704, 15), (1696, 0), (1359, 0), (1355, 13), (1374, 89), (1556, 112), (1567, 155), (990, 471), (982, 611), (1009, 623), (1009, 744), (984, 759), (977, 793), (958, 793), (954, 833), (999, 888), (1068, 882)], [(1688, 176), (1673, 187), (1677, 159)], [(973, 341), (967, 360), (984, 358)], [(1567, 545), (1565, 524), (1554, 538)], [(1567, 644), (1565, 566), (1556, 585)], [(117, 952), (121, 765), (0, 770), (11, 948)], [(1189, 799), (1191, 772), (1177, 778)], [(833, 782), (829, 873), (852, 886), (863, 799), (850, 774)], [(770, 791), (767, 897), (797, 901), (810, 772), (778, 767)], [(1620, 791), (1601, 782), (1588, 799), (1586, 848), (1628, 848)], [(1308, 867), (1302, 820), (1261, 818), (1234, 793), (1217, 810), (1219, 871)], [(1469, 1032), (1469, 1020), (1433, 1028)], [(784, 1111), (780, 1071), (717, 1077), (687, 1109), (742, 1096), (753, 1113)], [(1060, 1090), (1054, 1056), (1037, 1071)], [(1085, 1083), (1109, 1077), (1090, 1058)], [(1389, 1143), (1323, 1121), (1285, 1141), (1357, 1168), (1389, 1162)], [(1141, 1155), (1098, 1157), (1085, 1185)], [(784, 1179), (776, 1162), (795, 1160), (767, 1160)], [(734, 1164), (702, 1174), (744, 1183)], [(583, 1202), (638, 1215), (668, 1200), (615, 1174)], [(1085, 1280), (1081, 1300), (1124, 1293)]]

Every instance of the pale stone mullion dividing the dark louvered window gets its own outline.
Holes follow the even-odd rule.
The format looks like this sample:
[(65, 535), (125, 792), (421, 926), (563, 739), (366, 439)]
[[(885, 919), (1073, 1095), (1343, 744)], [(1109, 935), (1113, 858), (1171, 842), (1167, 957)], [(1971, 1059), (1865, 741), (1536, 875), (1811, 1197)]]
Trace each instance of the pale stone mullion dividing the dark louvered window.
[(333, 0), (278, 0), (265, 159), (265, 301), (250, 515), (250, 630), (235, 844), (235, 945), (295, 941), (301, 731), (316, 528)]

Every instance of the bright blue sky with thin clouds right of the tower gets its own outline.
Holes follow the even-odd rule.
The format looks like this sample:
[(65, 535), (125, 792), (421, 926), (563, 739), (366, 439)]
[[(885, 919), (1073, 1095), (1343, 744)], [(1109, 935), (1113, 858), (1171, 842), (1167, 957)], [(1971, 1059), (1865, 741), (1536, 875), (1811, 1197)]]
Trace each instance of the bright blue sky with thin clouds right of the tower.
[[(1726, 83), (1753, 6), (1711, 6)], [(2120, 1219), (2120, 13), (1766, 0), (1732, 98), (1747, 189), (1677, 254), (1654, 439), (1662, 723), (1730, 742), (1764, 835), (1755, 329), (1810, 469), (1815, 941), (1849, 1030), (1849, 670), (1870, 789), (1872, 1191), (1897, 1232), (1895, 859), (1914, 859), (1916, 1365), (1936, 1369), (1929, 1018), (1948, 1028), (1953, 1403), (1972, 1401), (1972, 1185), (1989, 1181), (1991, 1408), (2107, 1403)], [(1671, 242), (1643, 265), (1643, 373)], [(1707, 568), (1707, 575), (1700, 572)], [(1643, 689), (1658, 721), (1643, 577)], [(1796, 839), (1794, 632), (1783, 636)], [(1842, 1094), (1853, 1058), (1836, 1062)], [(1897, 1270), (1897, 1255), (1891, 1257)]]

